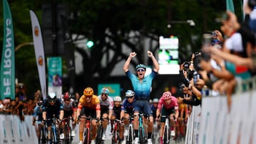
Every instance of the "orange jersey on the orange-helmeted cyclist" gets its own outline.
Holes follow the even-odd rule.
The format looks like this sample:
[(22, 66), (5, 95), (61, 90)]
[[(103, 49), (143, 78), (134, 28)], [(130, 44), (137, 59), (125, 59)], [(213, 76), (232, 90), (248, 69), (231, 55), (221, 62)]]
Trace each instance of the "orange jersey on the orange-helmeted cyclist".
[(83, 106), (87, 109), (100, 110), (100, 100), (96, 95), (92, 95), (92, 100), (87, 103), (86, 96), (82, 95), (79, 99), (78, 109), (82, 109)]

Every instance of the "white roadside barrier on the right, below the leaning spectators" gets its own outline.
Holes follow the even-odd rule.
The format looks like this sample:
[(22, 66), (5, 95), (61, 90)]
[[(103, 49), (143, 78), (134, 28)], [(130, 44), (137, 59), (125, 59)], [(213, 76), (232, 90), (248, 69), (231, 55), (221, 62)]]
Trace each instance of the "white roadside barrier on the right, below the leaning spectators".
[(226, 96), (203, 97), (188, 118), (186, 144), (256, 143), (255, 84), (256, 77), (238, 84), (230, 111)]

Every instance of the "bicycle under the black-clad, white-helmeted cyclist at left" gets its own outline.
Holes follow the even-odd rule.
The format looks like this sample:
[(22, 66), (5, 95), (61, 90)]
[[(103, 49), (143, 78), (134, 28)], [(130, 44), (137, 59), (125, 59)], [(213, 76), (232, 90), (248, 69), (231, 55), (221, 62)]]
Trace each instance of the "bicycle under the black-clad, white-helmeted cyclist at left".
[[(60, 143), (59, 131), (58, 131), (58, 128), (56, 126), (57, 118), (55, 118), (55, 117), (54, 118), (48, 118), (48, 119), (46, 119), (46, 121), (51, 121), (50, 138), (48, 138), (47, 143), (50, 143), (50, 144)], [(46, 129), (47, 129), (47, 126), (46, 126)], [(46, 135), (48, 135), (48, 133), (46, 133)]]

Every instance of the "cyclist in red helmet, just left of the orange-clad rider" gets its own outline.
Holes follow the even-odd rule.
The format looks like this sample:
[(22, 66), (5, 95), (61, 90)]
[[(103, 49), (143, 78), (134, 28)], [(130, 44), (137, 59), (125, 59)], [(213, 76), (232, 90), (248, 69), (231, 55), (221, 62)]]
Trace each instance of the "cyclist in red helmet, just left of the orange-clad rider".
[[(63, 94), (63, 99), (62, 99), (62, 104), (63, 104), (63, 110), (64, 110), (64, 118), (72, 117), (73, 123), (72, 123), (72, 131), (71, 131), (71, 136), (75, 136), (75, 116), (77, 115), (76, 113), (76, 104), (75, 100), (71, 99), (71, 95), (69, 92), (65, 92)], [(64, 139), (64, 133), (63, 133), (63, 123), (60, 125), (60, 139)]]

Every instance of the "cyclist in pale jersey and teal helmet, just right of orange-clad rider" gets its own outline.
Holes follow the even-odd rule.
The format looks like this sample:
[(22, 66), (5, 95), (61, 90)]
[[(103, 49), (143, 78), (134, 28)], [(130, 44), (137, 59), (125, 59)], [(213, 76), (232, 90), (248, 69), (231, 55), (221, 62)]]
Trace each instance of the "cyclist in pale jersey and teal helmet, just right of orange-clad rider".
[(113, 113), (114, 101), (112, 97), (108, 96), (110, 94), (109, 89), (104, 87), (101, 89), (100, 92), (101, 94), (98, 96), (98, 98), (100, 99), (100, 111), (102, 116), (102, 128), (103, 128), (102, 140), (106, 140), (107, 124), (108, 124), (108, 121), (110, 121)]

